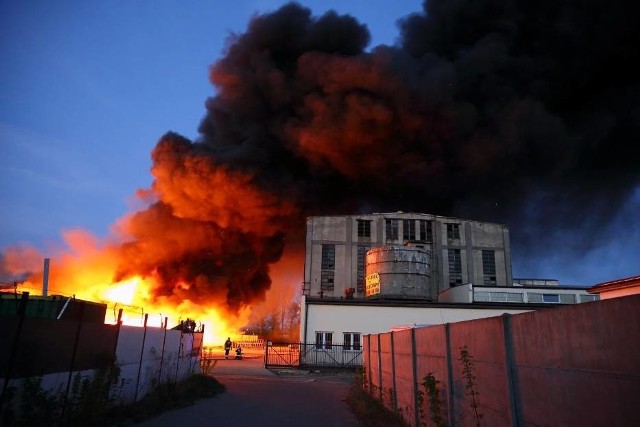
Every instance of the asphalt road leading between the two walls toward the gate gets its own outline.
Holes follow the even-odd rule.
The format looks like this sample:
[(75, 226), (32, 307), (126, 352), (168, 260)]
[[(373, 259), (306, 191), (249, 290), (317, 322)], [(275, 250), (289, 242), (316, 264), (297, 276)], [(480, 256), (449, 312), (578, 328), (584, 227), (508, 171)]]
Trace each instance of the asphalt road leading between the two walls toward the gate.
[(269, 371), (260, 355), (216, 360), (211, 375), (227, 390), (187, 408), (159, 415), (144, 427), (360, 426), (344, 399), (352, 376)]

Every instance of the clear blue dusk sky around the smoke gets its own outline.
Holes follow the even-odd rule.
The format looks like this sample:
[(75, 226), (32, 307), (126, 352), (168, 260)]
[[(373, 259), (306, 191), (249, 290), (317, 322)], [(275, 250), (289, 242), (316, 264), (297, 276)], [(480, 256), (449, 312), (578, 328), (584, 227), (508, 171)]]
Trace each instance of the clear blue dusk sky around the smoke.
[[(215, 94), (209, 67), (227, 37), (285, 3), (0, 0), (0, 251), (27, 244), (47, 254), (66, 229), (107, 235), (139, 207), (162, 135), (197, 139)], [(418, 0), (299, 3), (352, 15), (368, 27), (369, 48), (393, 45), (396, 21), (422, 10)], [(606, 241), (576, 250), (560, 239), (535, 258), (514, 245), (514, 276), (593, 285), (640, 274), (639, 212), (636, 186)]]

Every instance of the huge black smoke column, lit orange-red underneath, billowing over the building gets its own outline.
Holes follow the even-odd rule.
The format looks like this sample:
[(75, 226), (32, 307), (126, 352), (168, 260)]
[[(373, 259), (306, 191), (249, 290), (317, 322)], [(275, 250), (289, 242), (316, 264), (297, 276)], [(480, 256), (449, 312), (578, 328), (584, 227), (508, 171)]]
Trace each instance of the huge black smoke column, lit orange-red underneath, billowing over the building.
[(560, 238), (588, 251), (640, 183), (638, 12), (433, 0), (369, 50), (351, 16), (255, 16), (211, 66), (200, 136), (153, 150), (152, 203), (122, 221), (116, 278), (238, 309), (323, 214), (502, 222), (520, 255)]

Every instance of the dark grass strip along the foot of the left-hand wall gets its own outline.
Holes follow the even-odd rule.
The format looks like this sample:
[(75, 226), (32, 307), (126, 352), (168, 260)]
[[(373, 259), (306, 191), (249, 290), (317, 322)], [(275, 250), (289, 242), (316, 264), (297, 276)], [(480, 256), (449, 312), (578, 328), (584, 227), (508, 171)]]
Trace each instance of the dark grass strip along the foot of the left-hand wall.
[(215, 378), (195, 374), (178, 384), (162, 384), (138, 402), (112, 408), (107, 415), (108, 425), (139, 423), (163, 412), (190, 406), (199, 399), (212, 397), (224, 391), (224, 384)]

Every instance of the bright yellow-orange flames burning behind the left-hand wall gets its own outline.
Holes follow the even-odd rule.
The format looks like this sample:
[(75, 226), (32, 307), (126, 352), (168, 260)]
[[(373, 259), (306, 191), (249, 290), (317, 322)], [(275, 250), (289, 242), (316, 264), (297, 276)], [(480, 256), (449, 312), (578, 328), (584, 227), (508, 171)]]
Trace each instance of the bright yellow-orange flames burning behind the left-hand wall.
[[(227, 337), (237, 340), (240, 328), (248, 322), (248, 308), (230, 314), (223, 306), (196, 304), (184, 298), (179, 292), (188, 290), (187, 283), (176, 284), (174, 295), (157, 296), (154, 289), (158, 288), (158, 283), (154, 277), (133, 276), (113, 281), (111, 278), (115, 276), (117, 267), (115, 251), (108, 246), (100, 247), (92, 236), (83, 231), (66, 232), (64, 237), (71, 250), (52, 259), (48, 294), (106, 303), (105, 323), (116, 323), (120, 310), (122, 323), (132, 326), (143, 326), (145, 314), (150, 327), (163, 326), (167, 318), (167, 327), (172, 328), (189, 318), (196, 321), (198, 328), (204, 325), (204, 345), (217, 346), (222, 345)], [(27, 259), (19, 248), (7, 254), (22, 263)], [(29, 259), (31, 271), (41, 269), (42, 257), (32, 256)], [(32, 275), (18, 286), (18, 291), (28, 291), (32, 295), (41, 295), (41, 289), (41, 273)]]

